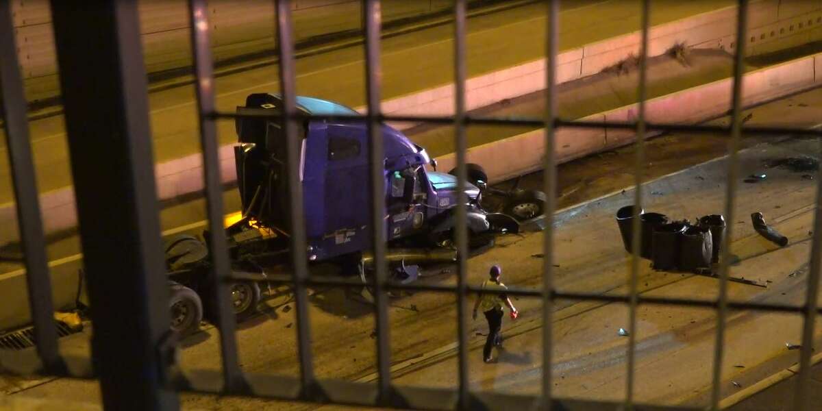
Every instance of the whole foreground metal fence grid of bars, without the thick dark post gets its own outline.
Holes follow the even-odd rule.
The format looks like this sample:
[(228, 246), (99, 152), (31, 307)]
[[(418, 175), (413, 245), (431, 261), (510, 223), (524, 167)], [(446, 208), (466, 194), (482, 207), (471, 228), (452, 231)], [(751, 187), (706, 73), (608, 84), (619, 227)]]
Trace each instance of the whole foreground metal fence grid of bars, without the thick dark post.
[[(123, 3), (127, 0), (122, 0)], [(552, 395), (552, 304), (557, 299), (577, 300), (577, 301), (598, 301), (598, 302), (621, 302), (629, 307), (629, 340), (626, 356), (626, 397), (622, 404), (610, 404), (611, 406), (625, 406), (630, 409), (635, 406), (635, 347), (636, 334), (634, 332), (637, 320), (636, 312), (640, 304), (675, 305), (683, 307), (706, 307), (717, 312), (716, 323), (716, 344), (713, 353), (712, 367), (712, 390), (710, 396), (710, 409), (718, 409), (720, 404), (719, 386), (722, 378), (722, 362), (725, 345), (725, 327), (727, 313), (730, 310), (756, 310), (763, 312), (791, 312), (804, 316), (802, 330), (802, 349), (800, 359), (800, 383), (797, 385), (797, 409), (808, 409), (806, 397), (808, 394), (808, 381), (811, 347), (815, 326), (815, 316), (819, 314), (817, 307), (817, 289), (820, 282), (820, 253), (822, 253), (822, 242), (819, 236), (822, 235), (822, 208), (816, 208), (815, 229), (813, 234), (813, 245), (810, 256), (810, 275), (807, 284), (806, 303), (801, 306), (771, 304), (762, 302), (731, 302), (727, 298), (728, 283), (728, 262), (729, 244), (727, 239), (732, 237), (731, 227), (723, 238), (721, 244), (721, 264), (719, 268), (719, 293), (718, 298), (711, 300), (689, 299), (689, 298), (661, 298), (640, 295), (638, 289), (638, 275), (640, 271), (640, 256), (638, 252), (633, 253), (630, 259), (630, 276), (628, 278), (629, 293), (627, 295), (604, 295), (598, 293), (571, 293), (559, 292), (554, 289), (553, 283), (553, 236), (554, 224), (553, 215), (556, 211), (556, 158), (554, 151), (556, 130), (560, 127), (614, 127), (617, 129), (634, 130), (635, 139), (635, 196), (634, 196), (634, 226), (632, 238), (632, 250), (639, 250), (641, 243), (640, 219), (641, 205), (643, 203), (642, 190), (639, 188), (643, 184), (645, 167), (644, 136), (649, 131), (659, 132), (695, 132), (695, 133), (727, 133), (728, 140), (728, 161), (727, 175), (728, 183), (725, 194), (725, 215), (728, 220), (733, 220), (734, 198), (737, 190), (737, 174), (739, 173), (738, 151), (743, 134), (756, 133), (766, 136), (777, 136), (791, 133), (797, 136), (822, 136), (819, 130), (809, 130), (791, 127), (743, 127), (741, 121), (741, 95), (744, 47), (737, 47), (734, 58), (733, 86), (732, 86), (732, 122), (729, 126), (715, 125), (686, 125), (670, 123), (648, 122), (645, 118), (645, 101), (647, 99), (647, 60), (649, 47), (649, 21), (650, 21), (650, 1), (643, 0), (641, 17), (641, 43), (640, 43), (640, 81), (639, 81), (639, 115), (635, 122), (588, 122), (570, 121), (558, 118), (556, 109), (556, 66), (559, 37), (559, 0), (547, 1), (547, 36), (545, 43), (546, 50), (546, 110), (543, 118), (482, 118), (473, 117), (467, 113), (466, 109), (466, 0), (455, 0), (455, 115), (454, 116), (403, 116), (385, 115), (381, 113), (381, 3), (379, 0), (364, 0), (363, 2), (363, 28), (364, 47), (366, 56), (366, 100), (367, 111), (363, 116), (344, 115), (307, 115), (298, 111), (296, 103), (296, 75), (293, 50), (293, 20), (292, 2), (287, 0), (276, 1), (276, 31), (277, 44), (279, 50), (279, 84), (280, 95), (283, 100), (283, 108), (277, 114), (242, 114), (222, 113), (215, 109), (214, 74), (213, 61), (210, 53), (210, 35), (208, 23), (208, 9), (205, 0), (189, 0), (189, 12), (192, 22), (192, 48), (195, 58), (196, 75), (196, 98), (197, 109), (200, 118), (201, 146), (204, 155), (205, 169), (205, 197), (207, 211), (211, 226), (219, 227), (222, 224), (223, 204), (220, 196), (219, 159), (217, 156), (217, 139), (215, 122), (229, 118), (266, 118), (271, 121), (280, 122), (283, 126), (284, 136), (287, 141), (288, 159), (288, 187), (289, 187), (289, 210), (290, 217), (294, 222), (290, 236), (292, 252), (291, 275), (270, 275), (265, 280), (272, 283), (291, 284), (295, 293), (295, 305), (297, 309), (297, 337), (298, 337), (298, 361), (300, 372), (298, 378), (286, 376), (265, 376), (244, 373), (239, 367), (237, 342), (234, 335), (235, 324), (231, 315), (230, 302), (226, 297), (226, 280), (231, 278), (242, 278), (242, 275), (229, 274), (229, 260), (226, 246), (225, 234), (221, 230), (210, 232), (210, 247), (212, 252), (211, 263), (215, 266), (218, 275), (215, 276), (215, 298), (219, 302), (217, 316), (217, 326), (219, 329), (219, 339), (221, 343), (222, 371), (210, 372), (204, 370), (193, 370), (185, 375), (178, 372), (172, 363), (164, 364), (160, 371), (169, 386), (176, 390), (189, 390), (195, 392), (209, 392), (224, 395), (253, 395), (275, 399), (295, 399), (314, 401), (321, 403), (353, 404), (367, 406), (388, 406), (411, 409), (476, 409), (488, 408), (497, 409), (504, 405), (519, 406), (525, 408), (539, 409), (566, 409), (573, 408), (575, 401), (566, 400), (560, 402)], [(133, 11), (133, 10), (132, 10)], [(737, 7), (737, 41), (736, 44), (745, 44), (747, 26), (748, 2), (740, 0)], [(50, 318), (52, 310), (51, 301), (48, 298), (50, 289), (48, 281), (48, 270), (45, 266), (45, 252), (43, 249), (44, 239), (42, 237), (42, 227), (39, 221), (39, 203), (34, 178), (34, 169), (31, 164), (30, 146), (27, 142), (27, 124), (25, 120), (25, 98), (22, 93), (22, 82), (19, 69), (17, 68), (16, 52), (13, 40), (13, 25), (11, 9), (8, 2), (0, 2), (0, 54), (9, 56), (0, 60), (0, 85), (2, 85), (2, 109), (5, 118), (7, 138), (9, 139), (9, 155), (16, 161), (12, 161), (14, 182), (16, 188), (16, 198), (18, 204), (30, 205), (18, 208), (20, 213), (21, 238), (25, 242), (26, 269), (29, 270), (29, 290), (32, 312), (34, 313), (35, 337), (37, 340), (37, 356), (21, 356), (13, 360), (7, 358), (5, 353), (0, 357), (3, 359), (2, 366), (11, 372), (45, 372), (59, 376), (94, 377), (90, 371), (90, 360), (88, 358), (62, 358), (57, 349), (57, 333), (53, 329), (53, 321)], [(60, 35), (60, 32), (57, 33)], [(143, 90), (145, 92), (145, 90)], [(302, 212), (302, 184), (299, 179), (299, 144), (297, 124), (305, 120), (352, 120), (360, 119), (367, 124), (369, 133), (369, 153), (370, 153), (370, 190), (372, 201), (372, 239), (375, 244), (374, 267), (375, 275), (372, 278), (372, 286), (375, 289), (375, 313), (376, 313), (376, 372), (379, 376), (376, 386), (347, 382), (347, 381), (326, 381), (317, 379), (314, 376), (314, 366), (312, 358), (312, 335), (310, 332), (310, 316), (307, 310), (307, 287), (313, 285), (330, 285), (336, 287), (358, 287), (362, 283), (358, 280), (349, 279), (328, 279), (312, 278), (308, 275), (307, 267), (307, 238)], [(458, 192), (462, 199), (458, 201), (456, 226), (456, 247), (458, 249), (458, 272), (457, 284), (455, 286), (443, 286), (435, 284), (399, 284), (388, 279), (386, 261), (386, 233), (382, 227), (381, 216), (385, 214), (385, 204), (383, 192), (385, 181), (383, 178), (383, 143), (381, 139), (381, 123), (395, 122), (428, 122), (436, 124), (453, 125), (455, 127), (456, 164), (458, 177)], [(543, 383), (542, 395), (505, 395), (500, 393), (473, 392), (469, 390), (469, 367), (468, 367), (468, 337), (466, 326), (466, 298), (469, 294), (476, 294), (480, 291), (485, 293), (496, 293), (493, 290), (482, 290), (478, 287), (470, 286), (466, 281), (466, 255), (468, 249), (468, 228), (465, 220), (466, 201), (464, 188), (466, 187), (466, 133), (465, 129), (472, 124), (498, 124), (498, 125), (527, 125), (534, 127), (544, 127), (546, 155), (543, 162), (543, 184), (544, 192), (547, 194), (545, 207), (546, 224), (543, 241), (543, 288), (542, 289), (507, 289), (506, 294), (511, 296), (524, 296), (540, 298), (543, 301)], [(822, 184), (822, 178), (817, 178)], [(817, 193), (817, 204), (820, 204), (822, 190)], [(255, 279), (256, 278), (247, 278)], [(458, 387), (456, 390), (423, 389), (392, 384), (390, 375), (390, 323), (388, 321), (387, 298), (392, 290), (415, 290), (431, 291), (438, 293), (453, 293), (457, 297), (457, 330), (458, 330)], [(109, 344), (113, 341), (109, 341)], [(351, 395), (350, 393), (356, 393)], [(607, 404), (595, 401), (588, 404)], [(174, 404), (165, 404), (164, 409), (175, 409)]]

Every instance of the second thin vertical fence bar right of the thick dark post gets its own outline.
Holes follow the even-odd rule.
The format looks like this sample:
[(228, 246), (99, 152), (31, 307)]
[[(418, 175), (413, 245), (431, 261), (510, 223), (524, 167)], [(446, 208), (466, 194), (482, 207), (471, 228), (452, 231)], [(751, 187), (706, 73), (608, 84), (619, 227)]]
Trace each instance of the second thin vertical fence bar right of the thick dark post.
[(288, 150), (289, 207), (291, 215), (291, 256), (294, 275), (294, 299), (297, 314), (300, 381), (302, 395), (316, 399), (320, 395), (314, 380), (311, 321), (308, 318), (307, 240), (303, 213), (300, 150), (302, 139), (297, 133), (297, 91), (294, 68), (294, 39), (290, 0), (277, 1), (277, 39), (279, 44), (279, 88), (283, 97), (282, 122)]

